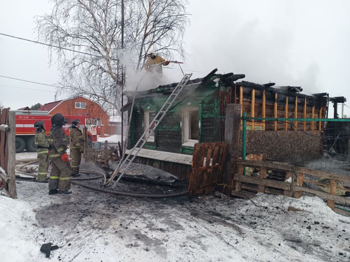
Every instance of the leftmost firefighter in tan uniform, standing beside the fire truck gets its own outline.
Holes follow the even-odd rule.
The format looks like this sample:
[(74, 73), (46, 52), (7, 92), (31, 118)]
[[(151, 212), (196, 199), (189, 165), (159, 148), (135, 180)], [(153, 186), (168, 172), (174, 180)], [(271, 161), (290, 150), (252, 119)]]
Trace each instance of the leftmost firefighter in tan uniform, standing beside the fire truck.
[(47, 169), (48, 169), (48, 149), (50, 148), (47, 142), (43, 121), (37, 121), (34, 124), (35, 145), (37, 146), (37, 158), (39, 159), (39, 167), (37, 169), (36, 182), (47, 183)]

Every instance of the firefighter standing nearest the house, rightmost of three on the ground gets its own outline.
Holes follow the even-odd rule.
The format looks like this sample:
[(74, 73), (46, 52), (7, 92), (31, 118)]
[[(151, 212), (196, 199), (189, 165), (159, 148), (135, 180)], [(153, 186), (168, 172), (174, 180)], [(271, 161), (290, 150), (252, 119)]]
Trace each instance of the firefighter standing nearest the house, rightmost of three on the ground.
[(78, 128), (79, 123), (79, 120), (73, 119), (69, 130), (70, 167), (72, 177), (80, 176), (79, 166), (81, 154), (84, 153), (84, 138), (81, 130)]

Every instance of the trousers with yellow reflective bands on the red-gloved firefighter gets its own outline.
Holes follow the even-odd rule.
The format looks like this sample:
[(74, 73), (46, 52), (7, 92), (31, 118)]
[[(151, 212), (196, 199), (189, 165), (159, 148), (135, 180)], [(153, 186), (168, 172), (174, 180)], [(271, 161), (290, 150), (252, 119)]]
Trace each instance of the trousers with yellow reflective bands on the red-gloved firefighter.
[(58, 189), (61, 191), (69, 190), (70, 176), (71, 171), (69, 162), (63, 162), (60, 157), (52, 159), (48, 189)]

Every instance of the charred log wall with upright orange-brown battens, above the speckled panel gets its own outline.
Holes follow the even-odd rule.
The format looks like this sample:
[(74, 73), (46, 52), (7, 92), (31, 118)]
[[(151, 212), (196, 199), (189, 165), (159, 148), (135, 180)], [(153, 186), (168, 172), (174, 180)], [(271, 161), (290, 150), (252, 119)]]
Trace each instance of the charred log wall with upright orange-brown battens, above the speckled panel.
[[(246, 112), (247, 117), (322, 118), (324, 107), (315, 99), (240, 86), (236, 103), (241, 104), (241, 116)], [(320, 131), (322, 128), (321, 122), (306, 121), (247, 121), (246, 124), (247, 130)]]

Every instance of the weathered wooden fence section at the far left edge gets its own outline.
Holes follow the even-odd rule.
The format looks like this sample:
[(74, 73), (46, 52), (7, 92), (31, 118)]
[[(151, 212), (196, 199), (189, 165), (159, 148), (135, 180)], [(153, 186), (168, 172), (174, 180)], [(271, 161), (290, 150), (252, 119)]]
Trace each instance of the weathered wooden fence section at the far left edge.
[(0, 112), (0, 184), (2, 194), (16, 198), (15, 113), (8, 109)]

